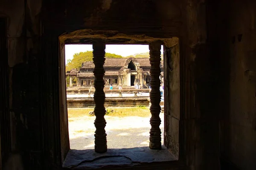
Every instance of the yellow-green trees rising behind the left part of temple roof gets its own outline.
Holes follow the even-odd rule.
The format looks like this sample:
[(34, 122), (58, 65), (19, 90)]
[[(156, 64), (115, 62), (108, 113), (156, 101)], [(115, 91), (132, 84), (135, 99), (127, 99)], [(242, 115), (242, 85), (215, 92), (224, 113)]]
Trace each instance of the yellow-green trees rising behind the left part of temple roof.
[[(122, 58), (120, 55), (106, 53), (106, 58)], [(66, 71), (70, 71), (72, 68), (80, 69), (82, 62), (93, 61), (93, 51), (80, 52), (73, 55), (72, 60), (67, 60)]]

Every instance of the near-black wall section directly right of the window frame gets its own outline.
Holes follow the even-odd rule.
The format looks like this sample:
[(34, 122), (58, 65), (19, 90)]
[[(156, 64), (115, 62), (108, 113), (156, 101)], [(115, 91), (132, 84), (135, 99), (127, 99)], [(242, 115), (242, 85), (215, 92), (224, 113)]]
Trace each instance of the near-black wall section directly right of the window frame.
[[(182, 7), (183, 33), (180, 37), (180, 124), (185, 125), (180, 137), (190, 169), (220, 169), (218, 159), (218, 114), (215, 106), (217, 73), (212, 45), (216, 31), (212, 31), (212, 5), (218, 1), (189, 0)], [(212, 8), (209, 10), (209, 8)], [(182, 87), (183, 86), (183, 87)], [(186, 143), (182, 143), (186, 141)], [(183, 154), (181, 152), (180, 154)]]

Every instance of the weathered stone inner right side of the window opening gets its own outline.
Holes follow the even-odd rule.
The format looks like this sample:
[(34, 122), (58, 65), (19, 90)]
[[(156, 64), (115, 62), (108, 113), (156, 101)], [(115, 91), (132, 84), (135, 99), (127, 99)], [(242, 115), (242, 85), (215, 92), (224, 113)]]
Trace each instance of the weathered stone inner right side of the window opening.
[[(170, 47), (164, 47), (164, 144), (178, 157), (180, 121), (180, 46), (174, 38)], [(162, 120), (163, 123), (163, 120)], [(162, 132), (163, 133), (163, 132)]]

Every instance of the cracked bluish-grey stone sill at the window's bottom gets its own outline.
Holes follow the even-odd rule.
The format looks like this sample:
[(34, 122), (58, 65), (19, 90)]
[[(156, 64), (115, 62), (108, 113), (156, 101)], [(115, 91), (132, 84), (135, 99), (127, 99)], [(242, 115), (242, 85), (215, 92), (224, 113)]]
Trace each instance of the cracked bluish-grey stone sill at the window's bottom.
[(110, 165), (122, 167), (175, 160), (177, 160), (177, 157), (170, 153), (165, 146), (162, 146), (162, 150), (151, 150), (149, 147), (108, 149), (106, 153), (96, 153), (93, 149), (70, 150), (64, 161), (64, 167), (96, 169)]

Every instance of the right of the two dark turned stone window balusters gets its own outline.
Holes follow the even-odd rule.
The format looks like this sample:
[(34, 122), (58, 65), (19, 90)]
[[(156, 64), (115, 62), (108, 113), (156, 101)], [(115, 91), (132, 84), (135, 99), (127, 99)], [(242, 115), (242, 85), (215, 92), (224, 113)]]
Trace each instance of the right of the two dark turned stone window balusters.
[(150, 137), (149, 137), (149, 147), (150, 149), (161, 149), (161, 130), (160, 124), (161, 119), (159, 117), (161, 107), (161, 94), (160, 94), (160, 60), (161, 60), (161, 44), (154, 42), (149, 44), (149, 55), (150, 55), (150, 74), (151, 74), (151, 91), (150, 91), (150, 112), (151, 112), (151, 119), (150, 119)]

